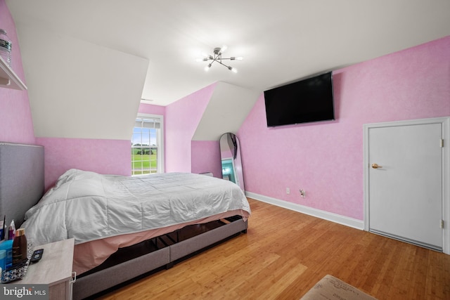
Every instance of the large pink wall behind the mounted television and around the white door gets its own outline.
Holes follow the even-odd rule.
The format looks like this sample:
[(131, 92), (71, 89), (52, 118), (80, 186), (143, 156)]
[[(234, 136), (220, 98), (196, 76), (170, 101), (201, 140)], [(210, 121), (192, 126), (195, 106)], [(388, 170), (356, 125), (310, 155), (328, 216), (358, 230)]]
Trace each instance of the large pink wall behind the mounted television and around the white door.
[(336, 70), (333, 84), (334, 122), (267, 128), (260, 96), (238, 131), (245, 188), (362, 220), (363, 124), (450, 116), (450, 37)]

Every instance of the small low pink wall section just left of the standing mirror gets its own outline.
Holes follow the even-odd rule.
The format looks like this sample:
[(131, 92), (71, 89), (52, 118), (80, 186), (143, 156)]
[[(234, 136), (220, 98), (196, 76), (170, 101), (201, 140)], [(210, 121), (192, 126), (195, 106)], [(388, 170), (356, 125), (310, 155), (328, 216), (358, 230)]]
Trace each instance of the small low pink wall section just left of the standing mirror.
[(217, 178), (222, 177), (220, 164), (219, 141), (192, 141), (191, 142), (191, 172), (212, 172)]

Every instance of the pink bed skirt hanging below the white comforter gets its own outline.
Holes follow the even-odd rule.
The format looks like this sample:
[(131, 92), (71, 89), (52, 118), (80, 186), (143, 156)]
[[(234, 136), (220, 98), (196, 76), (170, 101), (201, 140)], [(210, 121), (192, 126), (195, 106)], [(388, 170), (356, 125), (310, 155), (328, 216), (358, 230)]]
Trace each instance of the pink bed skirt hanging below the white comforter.
[(153, 237), (165, 235), (166, 233), (172, 233), (176, 229), (183, 228), (184, 226), (207, 223), (219, 219), (224, 219), (229, 216), (242, 216), (244, 221), (248, 219), (248, 212), (242, 209), (227, 211), (223, 214), (217, 214), (209, 216), (205, 219), (192, 221), (188, 223), (178, 224), (165, 228), (158, 228), (143, 231), (140, 233), (129, 233), (127, 235), (117, 235), (115, 237), (107, 237), (102, 240), (94, 240), (91, 242), (84, 242), (82, 244), (76, 244), (74, 249), (73, 258), (73, 270), (80, 275), (91, 268), (95, 268), (108, 259), (108, 257), (115, 253), (117, 249), (131, 246), (132, 244), (138, 244), (144, 240), (149, 240)]

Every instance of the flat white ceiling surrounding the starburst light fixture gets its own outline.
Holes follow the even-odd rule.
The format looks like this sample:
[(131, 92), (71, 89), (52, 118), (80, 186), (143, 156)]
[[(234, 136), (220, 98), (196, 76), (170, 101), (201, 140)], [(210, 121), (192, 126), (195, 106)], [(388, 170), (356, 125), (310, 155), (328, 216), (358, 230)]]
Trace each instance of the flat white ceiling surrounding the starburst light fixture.
[[(28, 37), (21, 32), (28, 25), (146, 58), (149, 64), (139, 98), (155, 105), (167, 105), (217, 81), (262, 93), (287, 81), (450, 34), (449, 0), (6, 3), (23, 44)], [(45, 30), (39, 37), (44, 44), (49, 40)], [(239, 72), (217, 64), (205, 72), (205, 63), (195, 58), (223, 44), (229, 47), (227, 56), (244, 57), (233, 62)], [(28, 51), (27, 60), (39, 59), (41, 53)], [(28, 84), (34, 80), (27, 76)]]

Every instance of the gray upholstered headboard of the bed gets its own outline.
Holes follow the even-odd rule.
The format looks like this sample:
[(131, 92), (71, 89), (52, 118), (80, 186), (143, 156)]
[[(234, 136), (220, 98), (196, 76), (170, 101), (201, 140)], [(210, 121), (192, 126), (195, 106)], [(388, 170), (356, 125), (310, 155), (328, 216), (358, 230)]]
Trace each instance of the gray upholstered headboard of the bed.
[(0, 142), (0, 219), (23, 223), (44, 194), (44, 147)]

